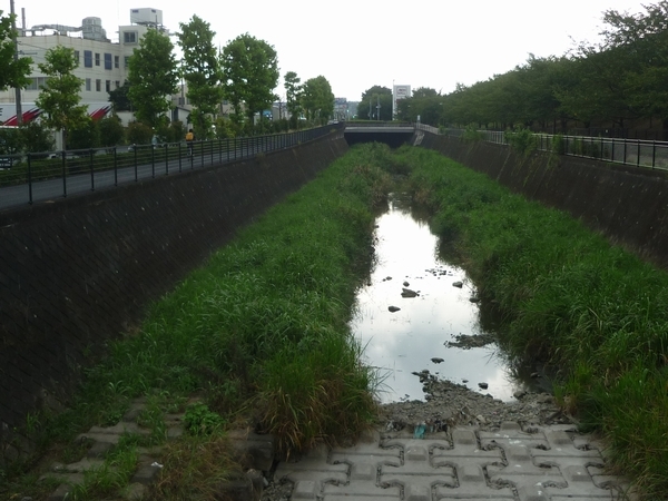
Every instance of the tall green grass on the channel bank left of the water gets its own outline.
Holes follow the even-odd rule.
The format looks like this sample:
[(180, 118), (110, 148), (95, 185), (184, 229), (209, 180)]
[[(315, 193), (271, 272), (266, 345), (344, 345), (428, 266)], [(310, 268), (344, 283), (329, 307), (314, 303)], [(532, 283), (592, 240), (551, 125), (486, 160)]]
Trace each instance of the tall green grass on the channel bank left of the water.
[[(112, 343), (69, 409), (29, 419), (28, 433), (50, 459), (71, 462), (85, 453), (71, 445), (77, 433), (117, 423), (132, 399), (147, 397), (140, 421), (153, 434), (128, 436), (73, 499), (120, 492), (137, 448), (165, 442), (165, 413), (186, 410), (193, 433), (169, 445), (155, 499), (212, 499), (207, 489), (233, 468), (220, 460), (222, 438), (238, 421), (274, 433), (285, 454), (353, 439), (371, 424), (375, 373), (361, 364), (347, 324), (370, 265), (373, 209), (391, 184), (381, 166), (391, 164), (379, 146), (333, 164), (155, 304), (138, 332)], [(186, 407), (193, 395), (204, 404)], [(52, 490), (36, 487), (40, 471), (28, 466), (3, 473), (0, 498), (37, 500)]]

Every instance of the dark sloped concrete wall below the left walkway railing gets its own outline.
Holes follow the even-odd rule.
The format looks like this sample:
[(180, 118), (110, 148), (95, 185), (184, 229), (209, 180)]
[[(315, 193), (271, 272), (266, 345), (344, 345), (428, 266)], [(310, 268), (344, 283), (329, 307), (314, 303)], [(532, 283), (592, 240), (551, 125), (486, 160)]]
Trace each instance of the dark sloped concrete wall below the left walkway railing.
[(0, 463), (20, 453), (12, 428), (66, 401), (105, 342), (345, 151), (337, 131), (252, 160), (0, 213)]

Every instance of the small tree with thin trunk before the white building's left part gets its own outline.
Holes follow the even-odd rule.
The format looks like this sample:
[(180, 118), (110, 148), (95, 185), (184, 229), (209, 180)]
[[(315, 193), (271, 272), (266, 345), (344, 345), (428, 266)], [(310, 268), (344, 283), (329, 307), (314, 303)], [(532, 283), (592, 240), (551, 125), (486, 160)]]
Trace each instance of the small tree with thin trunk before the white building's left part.
[(46, 62), (37, 65), (47, 78), (35, 104), (43, 110), (41, 120), (55, 130), (62, 130), (62, 147), (67, 148), (69, 129), (84, 127), (90, 117), (88, 108), (79, 105), (84, 80), (72, 75), (78, 62), (75, 50), (53, 47), (45, 55)]

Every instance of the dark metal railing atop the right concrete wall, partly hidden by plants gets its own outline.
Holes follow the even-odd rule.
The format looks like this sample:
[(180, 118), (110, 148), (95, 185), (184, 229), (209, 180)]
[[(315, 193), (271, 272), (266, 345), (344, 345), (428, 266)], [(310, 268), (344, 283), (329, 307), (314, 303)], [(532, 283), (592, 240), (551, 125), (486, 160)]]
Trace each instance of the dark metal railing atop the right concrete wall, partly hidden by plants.
[[(418, 125), (421, 130), (463, 137), (463, 129), (440, 131), (435, 127)], [(498, 145), (509, 145), (508, 136), (499, 130), (478, 130), (483, 140)], [(536, 147), (542, 151), (560, 155), (593, 158), (620, 165), (631, 165), (650, 169), (668, 170), (668, 143), (641, 139), (616, 139), (607, 137), (562, 136), (534, 134)]]

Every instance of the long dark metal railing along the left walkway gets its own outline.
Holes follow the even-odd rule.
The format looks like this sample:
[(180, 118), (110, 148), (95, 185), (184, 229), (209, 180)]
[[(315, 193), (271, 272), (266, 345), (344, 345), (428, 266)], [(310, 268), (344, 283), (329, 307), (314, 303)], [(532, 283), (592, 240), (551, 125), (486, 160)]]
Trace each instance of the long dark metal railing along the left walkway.
[(0, 210), (82, 191), (292, 148), (337, 125), (267, 136), (210, 141), (131, 145), (40, 154), (0, 154)]

